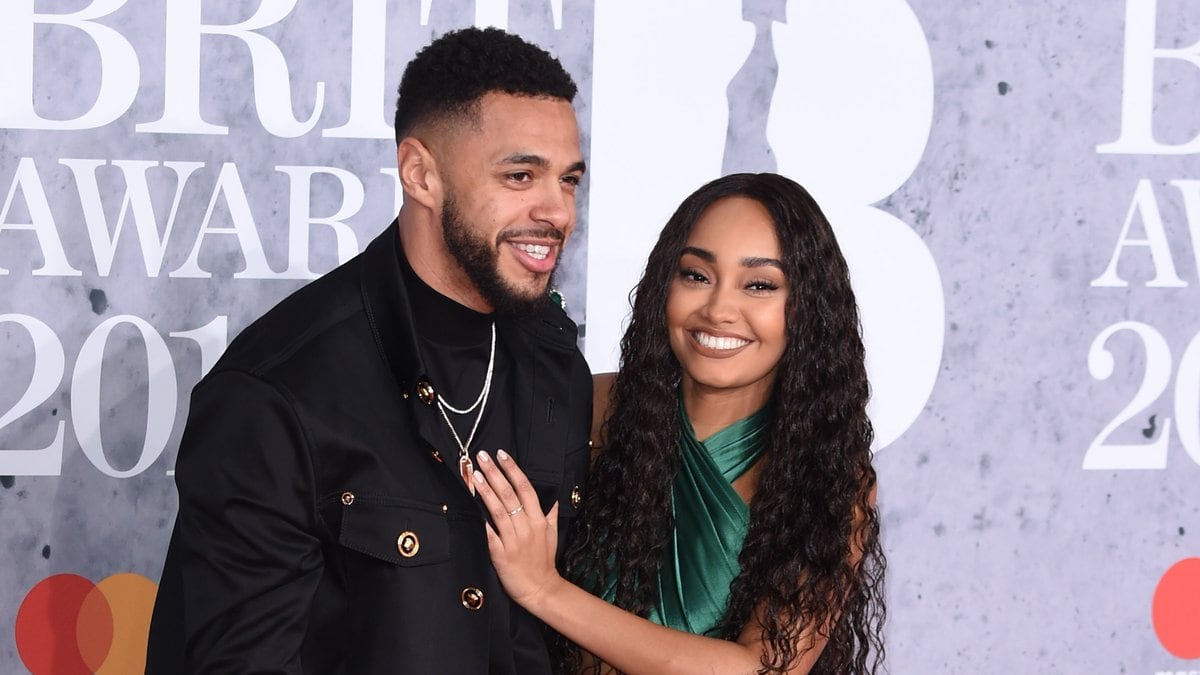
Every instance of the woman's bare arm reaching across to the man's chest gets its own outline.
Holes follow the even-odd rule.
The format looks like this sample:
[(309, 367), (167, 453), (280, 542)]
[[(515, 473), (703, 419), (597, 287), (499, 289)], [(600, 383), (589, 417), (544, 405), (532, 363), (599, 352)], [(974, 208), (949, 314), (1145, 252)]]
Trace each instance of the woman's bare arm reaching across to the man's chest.
[[(680, 673), (757, 673), (767, 651), (762, 627), (750, 621), (737, 641), (666, 628), (617, 608), (563, 579), (554, 568), (558, 504), (542, 515), (524, 473), (503, 452), (500, 467), (479, 454), (474, 479), (493, 528), (487, 526), (492, 562), (509, 596), (556, 631), (619, 670), (636, 675)], [(508, 478), (505, 478), (505, 474)], [(808, 673), (824, 647), (828, 631), (806, 628), (811, 645), (788, 674)], [(797, 650), (799, 651), (799, 649)]]

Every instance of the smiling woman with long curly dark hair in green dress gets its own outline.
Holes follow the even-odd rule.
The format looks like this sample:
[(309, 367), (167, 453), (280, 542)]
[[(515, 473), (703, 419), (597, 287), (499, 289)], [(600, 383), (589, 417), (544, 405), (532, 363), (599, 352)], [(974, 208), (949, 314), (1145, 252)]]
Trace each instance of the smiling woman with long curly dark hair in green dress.
[(704, 185), (637, 287), (566, 551), (578, 586), (554, 569), (558, 507), (544, 516), (504, 453), (479, 456), (505, 590), (620, 671), (875, 671), (866, 400), (854, 294), (817, 204), (775, 174)]

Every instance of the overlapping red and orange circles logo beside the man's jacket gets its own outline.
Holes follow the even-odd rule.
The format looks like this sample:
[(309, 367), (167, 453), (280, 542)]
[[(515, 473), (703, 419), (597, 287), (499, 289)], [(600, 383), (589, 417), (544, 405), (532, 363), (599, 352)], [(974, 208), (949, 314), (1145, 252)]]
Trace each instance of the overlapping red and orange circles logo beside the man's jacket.
[(17, 610), (17, 652), (34, 675), (143, 673), (157, 590), (140, 574), (47, 577)]

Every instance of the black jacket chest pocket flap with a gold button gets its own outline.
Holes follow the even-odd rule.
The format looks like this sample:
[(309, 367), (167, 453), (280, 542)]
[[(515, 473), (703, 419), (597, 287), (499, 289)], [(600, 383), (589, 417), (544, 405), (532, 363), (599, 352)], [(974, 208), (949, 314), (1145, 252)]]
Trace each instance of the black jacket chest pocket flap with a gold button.
[(440, 510), (358, 500), (346, 507), (338, 542), (402, 567), (450, 560), (450, 525)]

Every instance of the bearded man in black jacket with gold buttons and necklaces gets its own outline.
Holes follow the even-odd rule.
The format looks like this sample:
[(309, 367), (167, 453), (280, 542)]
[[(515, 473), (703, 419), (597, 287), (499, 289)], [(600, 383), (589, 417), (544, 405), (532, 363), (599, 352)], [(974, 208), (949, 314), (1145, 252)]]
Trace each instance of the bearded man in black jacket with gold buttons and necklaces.
[(503, 448), (560, 532), (580, 503), (590, 378), (547, 298), (584, 168), (575, 91), (494, 29), (408, 65), (397, 222), (192, 394), (149, 671), (550, 671), (463, 477)]

